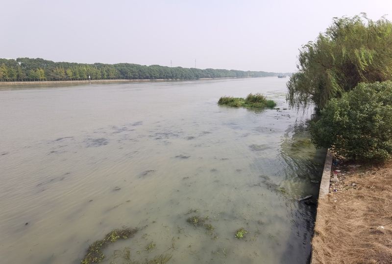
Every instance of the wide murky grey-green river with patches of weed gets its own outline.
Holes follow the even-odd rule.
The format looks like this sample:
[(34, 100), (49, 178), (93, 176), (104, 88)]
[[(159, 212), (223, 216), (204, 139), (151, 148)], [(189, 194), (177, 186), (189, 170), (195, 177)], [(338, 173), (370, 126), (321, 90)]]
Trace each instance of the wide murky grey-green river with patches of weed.
[[(0, 263), (78, 264), (123, 227), (102, 263), (306, 263), (325, 151), (286, 82), (1, 86)], [(250, 92), (280, 109), (217, 105)]]

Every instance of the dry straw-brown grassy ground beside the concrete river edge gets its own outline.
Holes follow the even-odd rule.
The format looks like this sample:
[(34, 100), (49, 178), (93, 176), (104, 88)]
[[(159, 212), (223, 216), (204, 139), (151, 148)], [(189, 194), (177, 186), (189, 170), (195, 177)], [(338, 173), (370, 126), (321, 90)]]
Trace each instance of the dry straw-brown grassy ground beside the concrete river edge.
[(319, 200), (312, 264), (392, 264), (392, 162), (335, 170)]

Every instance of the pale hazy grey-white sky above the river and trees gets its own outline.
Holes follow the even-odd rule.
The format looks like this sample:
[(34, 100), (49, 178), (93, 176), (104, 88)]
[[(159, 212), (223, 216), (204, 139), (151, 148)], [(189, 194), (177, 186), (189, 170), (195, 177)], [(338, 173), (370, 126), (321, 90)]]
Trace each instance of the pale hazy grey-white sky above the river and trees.
[(294, 71), (333, 17), (392, 0), (0, 0), (0, 58)]

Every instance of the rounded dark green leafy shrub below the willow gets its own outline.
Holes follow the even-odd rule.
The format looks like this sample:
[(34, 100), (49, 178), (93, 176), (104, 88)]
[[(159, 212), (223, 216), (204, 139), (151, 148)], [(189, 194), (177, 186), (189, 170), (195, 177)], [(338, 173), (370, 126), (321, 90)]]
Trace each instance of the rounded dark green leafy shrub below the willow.
[(360, 83), (340, 99), (331, 99), (310, 131), (316, 146), (348, 159), (390, 158), (392, 82)]

